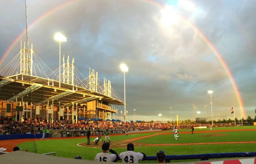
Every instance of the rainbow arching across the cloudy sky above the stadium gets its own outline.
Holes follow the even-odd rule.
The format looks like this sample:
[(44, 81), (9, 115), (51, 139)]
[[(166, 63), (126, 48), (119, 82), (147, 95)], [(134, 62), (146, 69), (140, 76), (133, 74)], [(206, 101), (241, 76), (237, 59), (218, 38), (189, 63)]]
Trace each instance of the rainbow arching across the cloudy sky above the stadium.
[[(154, 5), (158, 8), (164, 8), (165, 6), (164, 5), (161, 5), (157, 2), (154, 2), (153, 0), (139, 0), (141, 2), (145, 2), (147, 4), (150, 4), (150, 5)], [(43, 20), (44, 18), (46, 18), (47, 16), (51, 15), (52, 13), (58, 11), (59, 9), (62, 9), (68, 5), (71, 5), (73, 4), (74, 2), (78, 2), (78, 0), (71, 0), (71, 1), (68, 1), (62, 5), (59, 5), (53, 9), (51, 9), (50, 11), (48, 12), (45, 12), (43, 15), (41, 15), (37, 20), (35, 20), (32, 24), (30, 24), (28, 26), (28, 29), (32, 28), (35, 24), (37, 24), (38, 22), (40, 22), (41, 20)], [(215, 54), (215, 56), (217, 56), (217, 58), (219, 59), (220, 63), (222, 64), (222, 67), (224, 68), (224, 70), (226, 71), (231, 83), (232, 83), (232, 86), (234, 88), (234, 91), (235, 91), (235, 94), (236, 94), (236, 97), (237, 97), (237, 100), (239, 102), (239, 105), (241, 107), (241, 110), (242, 110), (242, 115), (243, 117), (246, 116), (246, 111), (244, 109), (244, 104), (243, 104), (243, 100), (242, 100), (242, 97), (240, 95), (240, 92), (238, 90), (238, 87), (236, 85), (236, 82), (234, 80), (234, 77), (233, 75), (231, 74), (226, 62), (223, 60), (223, 58), (221, 57), (220, 53), (217, 51), (217, 49), (214, 47), (214, 45), (209, 41), (209, 39), (207, 39), (206, 36), (204, 36), (204, 34), (196, 27), (194, 26), (193, 24), (191, 24), (187, 19), (185, 19), (183, 16), (181, 15), (177, 15), (178, 18), (184, 23), (186, 24), (187, 26), (191, 27), (203, 40), (204, 42), (208, 45), (208, 47), (213, 51), (213, 53)], [(2, 58), (0, 59), (0, 65), (2, 64), (2, 61), (5, 59), (5, 57), (7, 56), (7, 54), (10, 52), (10, 50), (12, 49), (12, 47), (20, 40), (20, 38), (25, 34), (26, 30), (24, 30), (14, 41), (13, 43), (8, 47), (8, 49), (6, 50), (6, 52), (4, 53), (4, 55), (2, 56)]]

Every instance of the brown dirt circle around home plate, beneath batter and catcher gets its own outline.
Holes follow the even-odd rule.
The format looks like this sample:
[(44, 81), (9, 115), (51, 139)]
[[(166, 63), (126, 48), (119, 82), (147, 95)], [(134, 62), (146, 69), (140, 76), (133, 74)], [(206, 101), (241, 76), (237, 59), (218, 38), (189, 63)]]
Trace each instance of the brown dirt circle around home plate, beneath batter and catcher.
[[(131, 142), (111, 142), (110, 148), (127, 148), (127, 144)], [(144, 146), (146, 145), (143, 142), (132, 142), (134, 147)], [(86, 143), (79, 143), (78, 146), (88, 147), (88, 148), (101, 148), (103, 142), (98, 142), (98, 145), (95, 145), (94, 142), (91, 142), (91, 145), (87, 145)]]

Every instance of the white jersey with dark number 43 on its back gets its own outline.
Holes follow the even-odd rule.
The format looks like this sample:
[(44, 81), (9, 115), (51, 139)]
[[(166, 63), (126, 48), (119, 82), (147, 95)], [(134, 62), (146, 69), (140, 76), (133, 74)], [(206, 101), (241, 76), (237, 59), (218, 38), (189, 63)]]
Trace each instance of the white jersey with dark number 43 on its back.
[(119, 157), (122, 159), (123, 163), (138, 163), (139, 160), (143, 159), (143, 156), (143, 154), (133, 151), (121, 152), (119, 154)]

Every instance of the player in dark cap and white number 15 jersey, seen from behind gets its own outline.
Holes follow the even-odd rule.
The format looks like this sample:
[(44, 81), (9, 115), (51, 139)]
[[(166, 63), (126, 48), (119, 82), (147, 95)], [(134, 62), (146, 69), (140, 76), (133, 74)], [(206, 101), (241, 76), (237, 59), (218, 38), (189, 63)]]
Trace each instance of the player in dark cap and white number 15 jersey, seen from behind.
[[(109, 148), (110, 144), (108, 142), (102, 144), (102, 152), (98, 153), (94, 161), (100, 161), (100, 162), (116, 162), (118, 158), (118, 154)], [(111, 152), (112, 154), (109, 154), (108, 152)]]

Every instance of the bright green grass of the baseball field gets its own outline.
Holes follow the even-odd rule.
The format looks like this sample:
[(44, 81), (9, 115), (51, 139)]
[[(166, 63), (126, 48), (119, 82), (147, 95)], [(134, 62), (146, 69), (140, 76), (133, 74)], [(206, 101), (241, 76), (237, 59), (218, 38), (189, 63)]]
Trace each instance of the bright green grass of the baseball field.
[[(215, 132), (217, 130), (233, 130), (238, 129), (241, 131), (234, 132)], [(256, 129), (255, 126), (244, 127), (222, 127), (213, 128), (213, 132), (209, 131), (209, 128), (195, 129), (195, 134), (179, 134), (180, 138), (176, 141), (172, 134), (159, 134), (147, 138), (141, 138), (133, 142), (143, 142), (145, 144), (182, 144), (182, 143), (207, 143), (207, 142), (247, 142), (256, 141), (256, 131), (242, 131), (243, 129)], [(191, 130), (191, 129), (190, 129)], [(205, 133), (197, 133), (200, 131), (207, 131)], [(172, 131), (162, 131), (172, 132)], [(143, 136), (158, 134), (162, 132), (149, 132), (140, 133), (129, 136), (126, 135), (113, 135), (110, 136), (111, 141), (124, 141), (133, 138), (139, 138)], [(180, 129), (179, 132), (186, 132), (184, 129)], [(222, 136), (208, 136), (220, 134)], [(93, 142), (95, 137), (91, 137)], [(37, 153), (56, 152), (57, 156), (74, 158), (76, 155), (81, 155), (84, 159), (94, 160), (97, 153), (101, 152), (100, 148), (88, 148), (78, 146), (78, 143), (87, 142), (87, 138), (70, 138), (70, 139), (57, 139), (57, 140), (40, 140), (36, 141)], [(126, 151), (125, 148), (113, 148), (117, 153)], [(182, 155), (182, 154), (201, 154), (201, 153), (219, 153), (219, 152), (256, 152), (256, 143), (239, 143), (239, 144), (206, 144), (206, 145), (158, 145), (158, 146), (141, 146), (135, 147), (136, 152), (144, 152), (146, 155), (156, 155), (156, 152), (162, 149), (166, 155)]]

